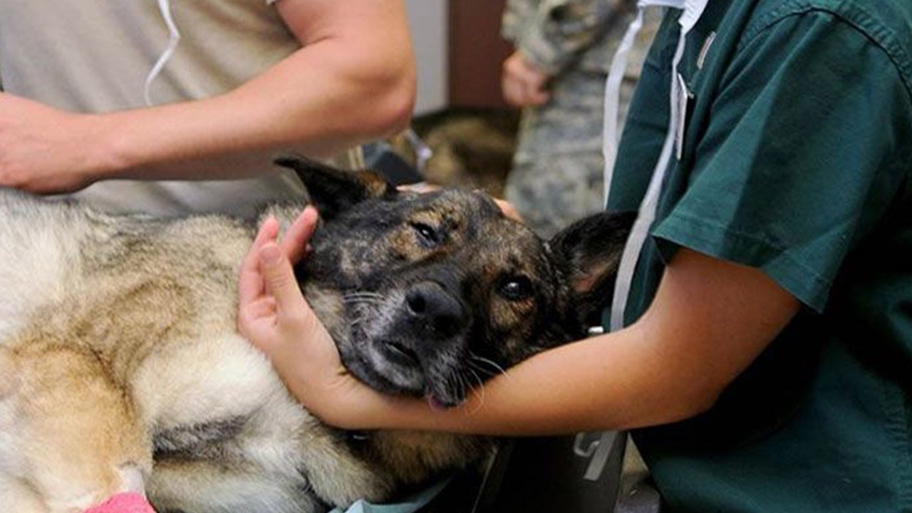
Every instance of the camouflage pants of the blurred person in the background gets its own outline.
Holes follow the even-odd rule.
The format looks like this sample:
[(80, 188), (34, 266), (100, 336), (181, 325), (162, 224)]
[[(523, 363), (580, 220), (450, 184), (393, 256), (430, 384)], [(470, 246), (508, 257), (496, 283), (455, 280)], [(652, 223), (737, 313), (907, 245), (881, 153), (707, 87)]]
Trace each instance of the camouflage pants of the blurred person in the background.
[[(537, 5), (531, 0), (529, 3)], [(517, 0), (511, 4), (520, 6), (526, 2)], [(662, 9), (647, 11), (637, 45), (631, 50), (620, 90), (618, 130), (623, 129), (649, 41), (663, 14)], [(586, 58), (552, 79), (552, 97), (547, 103), (523, 110), (505, 197), (540, 235), (549, 236), (604, 208), (602, 128), (606, 73), (632, 16), (632, 12), (628, 13), (608, 32), (600, 47), (590, 48)], [(595, 60), (592, 56), (596, 56)]]

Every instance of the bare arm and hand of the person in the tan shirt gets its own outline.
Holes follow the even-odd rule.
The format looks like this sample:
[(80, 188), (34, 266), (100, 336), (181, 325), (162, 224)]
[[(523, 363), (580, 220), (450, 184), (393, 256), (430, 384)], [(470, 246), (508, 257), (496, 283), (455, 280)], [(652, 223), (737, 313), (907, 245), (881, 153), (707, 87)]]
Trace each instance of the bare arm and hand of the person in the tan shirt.
[(221, 96), (83, 115), (0, 94), (0, 185), (249, 176), (274, 152), (326, 156), (408, 121), (414, 62), (400, 0), (276, 8), (304, 47)]

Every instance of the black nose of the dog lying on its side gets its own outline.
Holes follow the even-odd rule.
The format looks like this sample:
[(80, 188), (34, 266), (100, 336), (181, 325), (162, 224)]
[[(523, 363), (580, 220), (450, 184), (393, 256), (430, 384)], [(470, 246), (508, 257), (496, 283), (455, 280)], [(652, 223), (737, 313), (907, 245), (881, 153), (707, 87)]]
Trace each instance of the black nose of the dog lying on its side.
[(440, 284), (423, 281), (411, 286), (405, 297), (409, 317), (420, 322), (430, 335), (450, 336), (459, 331), (465, 320), (465, 309)]

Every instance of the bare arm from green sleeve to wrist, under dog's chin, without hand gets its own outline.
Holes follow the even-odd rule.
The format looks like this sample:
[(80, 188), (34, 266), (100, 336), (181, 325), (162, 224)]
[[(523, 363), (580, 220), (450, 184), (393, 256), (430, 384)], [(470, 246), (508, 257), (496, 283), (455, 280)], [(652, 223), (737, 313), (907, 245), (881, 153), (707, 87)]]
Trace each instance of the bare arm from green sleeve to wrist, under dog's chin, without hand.
[[(377, 428), (555, 434), (665, 424), (710, 408), (799, 303), (757, 269), (681, 250), (637, 323), (523, 361), (464, 407), (378, 402)], [(333, 419), (326, 408), (329, 422)]]

